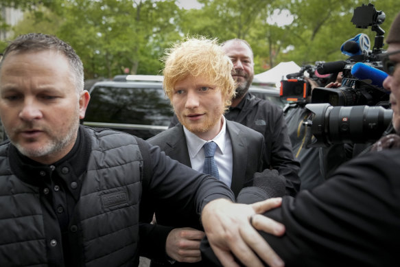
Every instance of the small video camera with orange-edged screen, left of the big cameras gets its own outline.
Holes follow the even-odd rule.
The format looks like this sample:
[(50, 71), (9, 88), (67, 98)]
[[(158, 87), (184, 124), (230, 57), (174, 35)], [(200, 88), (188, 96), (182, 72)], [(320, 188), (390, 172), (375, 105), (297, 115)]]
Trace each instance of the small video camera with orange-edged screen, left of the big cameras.
[(287, 74), (287, 80), (281, 80), (281, 98), (287, 101), (305, 103), (307, 97), (311, 96), (311, 85), (305, 80), (305, 73), (308, 77), (318, 83), (319, 86), (324, 86), (330, 75), (319, 75), (317, 65), (321, 62), (316, 62), (316, 65), (303, 65), (300, 71)]

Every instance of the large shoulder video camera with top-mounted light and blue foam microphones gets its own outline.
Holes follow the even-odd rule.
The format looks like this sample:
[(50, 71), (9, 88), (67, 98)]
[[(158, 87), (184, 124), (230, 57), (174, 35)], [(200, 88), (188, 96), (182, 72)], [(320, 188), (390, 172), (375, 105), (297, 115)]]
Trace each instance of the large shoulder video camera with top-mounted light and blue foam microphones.
[(322, 63), (317, 67), (320, 74), (342, 71), (342, 86), (339, 88), (316, 87), (311, 93), (311, 103), (329, 103), (333, 106), (389, 106), (389, 94), (382, 82), (387, 74), (381, 71), (379, 55), (384, 53), (384, 30), (379, 27), (385, 21), (384, 12), (375, 10), (373, 4), (355, 8), (355, 27), (372, 26), (377, 32), (373, 51), (369, 50), (369, 38), (358, 34), (342, 45), (342, 52), (351, 55), (346, 60)]

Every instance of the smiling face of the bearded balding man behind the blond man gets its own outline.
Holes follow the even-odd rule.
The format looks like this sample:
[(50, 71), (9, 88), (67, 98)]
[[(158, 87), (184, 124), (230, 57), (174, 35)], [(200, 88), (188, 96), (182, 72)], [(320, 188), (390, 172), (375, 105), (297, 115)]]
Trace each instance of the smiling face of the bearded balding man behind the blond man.
[(254, 78), (252, 51), (245, 43), (239, 41), (228, 42), (222, 49), (233, 62), (235, 71), (232, 72), (232, 77), (237, 83), (235, 98), (240, 98), (247, 93)]

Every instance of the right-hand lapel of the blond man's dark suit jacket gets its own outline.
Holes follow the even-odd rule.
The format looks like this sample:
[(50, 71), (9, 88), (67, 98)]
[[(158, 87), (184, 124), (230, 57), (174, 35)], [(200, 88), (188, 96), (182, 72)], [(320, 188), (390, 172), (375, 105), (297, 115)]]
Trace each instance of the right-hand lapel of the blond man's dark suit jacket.
[(237, 196), (239, 191), (242, 189), (246, 178), (246, 166), (248, 158), (247, 142), (239, 128), (237, 128), (231, 121), (226, 120), (226, 130), (228, 130), (228, 135), (231, 137), (233, 153), (231, 189), (235, 196)]

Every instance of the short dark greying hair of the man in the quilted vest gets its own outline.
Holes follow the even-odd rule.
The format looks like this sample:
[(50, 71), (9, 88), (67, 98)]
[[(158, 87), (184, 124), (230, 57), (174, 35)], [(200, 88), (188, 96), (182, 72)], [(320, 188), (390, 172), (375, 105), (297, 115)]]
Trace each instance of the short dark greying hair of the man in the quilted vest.
[(60, 40), (56, 36), (47, 34), (23, 34), (18, 36), (15, 40), (9, 43), (8, 47), (5, 48), (3, 53), (3, 60), (0, 62), (0, 69), (3, 65), (5, 58), (11, 52), (25, 53), (30, 51), (45, 51), (52, 50), (61, 52), (68, 60), (69, 67), (71, 67), (71, 79), (75, 84), (77, 92), (83, 91), (84, 89), (84, 71), (82, 60), (71, 45)]

